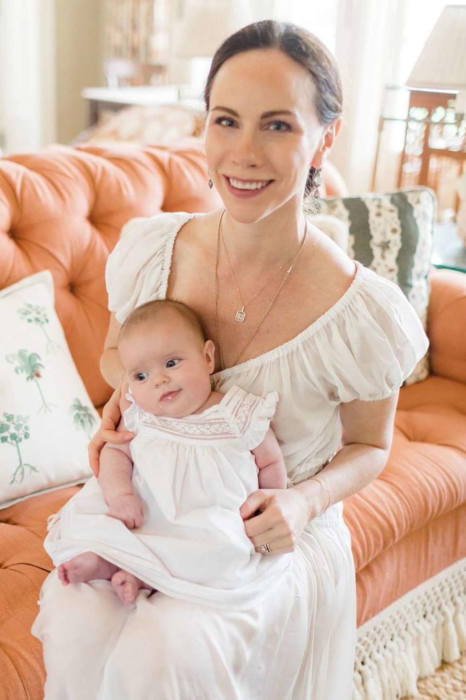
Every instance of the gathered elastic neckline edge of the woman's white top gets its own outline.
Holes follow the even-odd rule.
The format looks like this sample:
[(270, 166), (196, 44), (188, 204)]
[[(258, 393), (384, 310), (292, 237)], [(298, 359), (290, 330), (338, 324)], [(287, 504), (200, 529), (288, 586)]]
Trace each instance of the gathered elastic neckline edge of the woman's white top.
[[(175, 248), (176, 237), (182, 229), (182, 227), (184, 226), (184, 224), (187, 223), (187, 221), (189, 221), (191, 218), (194, 218), (195, 216), (202, 216), (202, 212), (196, 212), (195, 214), (191, 214), (187, 211), (180, 211), (177, 212), (177, 214), (179, 214), (182, 217), (182, 219), (180, 225), (171, 231), (171, 235), (166, 244), (165, 256), (163, 260), (160, 283), (160, 291), (161, 296), (163, 298), (166, 298), (168, 278), (170, 276), (170, 269), (173, 260), (173, 250)], [(327, 311), (324, 311), (323, 314), (319, 316), (319, 318), (316, 318), (315, 321), (313, 321), (304, 330), (298, 333), (298, 335), (295, 335), (295, 337), (291, 338), (290, 340), (287, 340), (281, 345), (278, 345), (276, 348), (272, 348), (271, 350), (261, 353), (256, 357), (250, 358), (249, 360), (245, 360), (244, 362), (241, 362), (238, 365), (235, 365), (234, 367), (226, 367), (224, 370), (219, 370), (218, 372), (215, 372), (211, 375), (214, 383), (219, 379), (226, 379), (227, 377), (230, 377), (231, 374), (238, 374), (238, 372), (247, 372), (253, 367), (260, 367), (261, 365), (263, 365), (263, 363), (269, 360), (274, 360), (282, 355), (285, 355), (286, 353), (289, 353), (296, 346), (300, 345), (302, 342), (312, 337), (312, 335), (314, 335), (315, 332), (320, 330), (320, 328), (322, 328), (323, 325), (327, 325), (328, 323), (330, 323), (330, 321), (332, 321), (333, 318), (335, 318), (335, 316), (337, 316), (337, 314), (342, 309), (347, 307), (349, 302), (351, 302), (352, 298), (354, 297), (354, 295), (356, 295), (356, 292), (359, 290), (363, 281), (363, 274), (365, 271), (364, 265), (358, 260), (353, 260), (353, 262), (356, 266), (356, 272), (354, 274), (353, 280), (351, 281), (351, 284), (347, 288), (346, 292), (342, 294), (340, 299), (337, 299), (335, 304), (333, 304), (329, 309), (327, 309)]]

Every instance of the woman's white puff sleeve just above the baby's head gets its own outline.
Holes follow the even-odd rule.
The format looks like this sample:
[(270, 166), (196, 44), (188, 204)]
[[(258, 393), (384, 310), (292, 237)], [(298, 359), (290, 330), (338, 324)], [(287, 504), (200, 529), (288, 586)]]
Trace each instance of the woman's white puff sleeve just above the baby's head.
[(173, 244), (191, 214), (170, 212), (131, 219), (108, 256), (108, 308), (123, 323), (133, 309), (166, 294)]

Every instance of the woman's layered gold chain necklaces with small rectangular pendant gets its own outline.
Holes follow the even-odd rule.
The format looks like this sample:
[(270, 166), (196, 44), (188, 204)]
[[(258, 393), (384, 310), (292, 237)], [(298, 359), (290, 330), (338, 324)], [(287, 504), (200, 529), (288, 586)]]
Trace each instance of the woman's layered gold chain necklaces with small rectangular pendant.
[[(221, 212), (221, 216), (220, 216), (220, 220), (219, 220), (219, 226), (218, 226), (218, 229), (217, 229), (217, 246), (216, 246), (216, 248), (215, 248), (215, 265), (214, 265), (214, 319), (215, 319), (215, 328), (216, 328), (216, 330), (217, 330), (217, 342), (218, 342), (218, 346), (219, 346), (220, 363), (221, 363), (221, 369), (222, 369), (222, 370), (225, 369), (225, 364), (224, 364), (224, 353), (223, 353), (222, 348), (221, 348), (220, 328), (219, 328), (219, 318), (218, 318), (218, 267), (219, 267), (220, 237), (223, 239), (223, 242), (224, 242), (224, 248), (225, 248), (225, 253), (226, 253), (226, 259), (228, 260), (228, 267), (230, 267), (231, 277), (232, 277), (232, 279), (233, 279), (233, 283), (235, 284), (235, 288), (236, 288), (236, 290), (237, 290), (237, 292), (238, 292), (238, 296), (240, 297), (240, 302), (241, 302), (241, 304), (242, 304), (242, 309), (236, 311), (236, 314), (235, 314), (235, 321), (238, 321), (239, 323), (242, 323), (242, 322), (245, 320), (245, 318), (246, 318), (246, 312), (245, 312), (245, 306), (246, 306), (246, 304), (245, 304), (245, 302), (244, 302), (243, 299), (242, 299), (242, 295), (241, 295), (241, 293), (240, 293), (240, 288), (239, 288), (239, 286), (238, 286), (237, 281), (235, 280), (235, 275), (233, 274), (233, 269), (231, 268), (230, 259), (228, 258), (228, 251), (226, 250), (226, 245), (225, 245), (225, 241), (224, 241), (224, 238), (223, 238), (223, 231), (221, 230), (221, 220), (222, 220), (224, 214), (225, 214), (225, 209), (224, 209), (224, 211)], [(261, 325), (262, 325), (263, 322), (265, 321), (265, 318), (267, 318), (267, 316), (268, 316), (268, 314), (269, 314), (269, 312), (270, 312), (270, 309), (272, 309), (273, 304), (275, 304), (275, 301), (277, 300), (277, 296), (278, 296), (279, 293), (282, 291), (282, 288), (283, 288), (283, 286), (284, 286), (284, 283), (285, 283), (286, 280), (289, 278), (289, 276), (290, 276), (290, 274), (291, 274), (291, 270), (292, 270), (293, 267), (296, 265), (296, 261), (298, 260), (298, 258), (299, 258), (299, 256), (300, 256), (300, 253), (301, 253), (301, 251), (303, 250), (303, 246), (304, 246), (304, 244), (305, 244), (305, 242), (306, 242), (306, 237), (307, 237), (307, 222), (305, 223), (305, 229), (304, 229), (303, 239), (301, 239), (300, 244), (299, 244), (299, 246), (298, 246), (296, 252), (295, 252), (294, 255), (293, 255), (293, 259), (291, 260), (291, 265), (290, 265), (290, 267), (286, 270), (286, 273), (285, 273), (285, 275), (284, 275), (284, 278), (282, 279), (282, 282), (281, 282), (280, 285), (279, 285), (279, 288), (277, 289), (277, 291), (276, 291), (275, 294), (273, 295), (272, 300), (270, 301), (270, 304), (268, 304), (267, 309), (265, 309), (264, 313), (262, 314), (259, 323), (257, 323), (257, 325), (256, 325), (256, 328), (254, 328), (252, 334), (251, 334), (251, 335), (249, 336), (249, 338), (247, 339), (247, 342), (246, 342), (245, 345), (242, 347), (241, 352), (240, 352), (240, 353), (238, 354), (238, 356), (235, 358), (235, 361), (234, 361), (233, 364), (231, 365), (232, 367), (235, 367), (235, 365), (238, 364), (238, 361), (240, 360), (240, 358), (242, 358), (242, 356), (244, 355), (246, 349), (247, 349), (247, 348), (249, 347), (249, 345), (252, 343), (252, 340), (254, 339), (254, 337), (256, 337), (256, 333), (258, 332), (259, 328), (261, 328)], [(273, 277), (275, 277), (275, 275), (279, 273), (279, 271), (282, 269), (282, 267), (284, 267), (284, 265), (286, 264), (286, 262), (288, 262), (288, 260), (289, 260), (291, 257), (292, 257), (292, 256), (289, 255), (288, 258), (286, 258), (286, 260), (284, 260), (284, 262), (282, 262), (282, 265), (280, 265), (280, 267), (272, 274), (272, 276), (269, 277), (269, 279), (268, 279), (268, 280), (265, 282), (265, 284), (259, 289), (259, 291), (256, 292), (256, 294), (254, 294), (254, 297), (252, 297), (251, 299), (249, 299), (249, 301), (247, 302), (248, 304), (250, 304), (250, 303), (261, 293), (261, 291), (263, 291), (263, 289), (265, 289), (265, 287), (268, 285), (268, 283), (270, 282), (270, 280), (273, 279)]]

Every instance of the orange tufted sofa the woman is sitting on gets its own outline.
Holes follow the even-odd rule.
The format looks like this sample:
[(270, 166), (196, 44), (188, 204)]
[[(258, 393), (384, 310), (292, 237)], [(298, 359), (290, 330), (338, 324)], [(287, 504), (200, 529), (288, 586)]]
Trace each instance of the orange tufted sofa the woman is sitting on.
[[(57, 313), (96, 407), (110, 395), (99, 373), (108, 325), (104, 268), (120, 228), (133, 216), (218, 204), (193, 139), (153, 147), (50, 146), (0, 160), (0, 288), (52, 271)], [(344, 503), (360, 629), (408, 591), (466, 562), (466, 275), (432, 269), (431, 283), (432, 375), (402, 388), (388, 465)], [(42, 542), (48, 515), (77, 488), (0, 510), (0, 700), (43, 696), (41, 646), (30, 633), (52, 568)], [(466, 591), (458, 601), (466, 608)], [(462, 624), (458, 610), (453, 622)], [(358, 700), (382, 697), (358, 687)]]

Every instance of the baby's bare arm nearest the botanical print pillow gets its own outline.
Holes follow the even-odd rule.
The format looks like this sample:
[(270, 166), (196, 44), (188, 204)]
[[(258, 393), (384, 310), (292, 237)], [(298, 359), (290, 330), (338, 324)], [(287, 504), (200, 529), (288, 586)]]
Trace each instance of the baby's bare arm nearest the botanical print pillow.
[[(117, 428), (117, 432), (122, 431), (127, 432), (123, 418)], [(108, 503), (108, 515), (121, 520), (130, 529), (143, 524), (143, 502), (133, 491), (132, 476), (129, 443), (105, 444), (101, 451), (99, 484)]]

